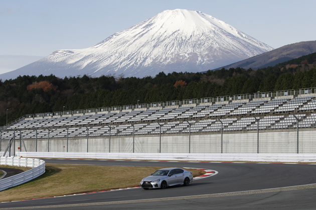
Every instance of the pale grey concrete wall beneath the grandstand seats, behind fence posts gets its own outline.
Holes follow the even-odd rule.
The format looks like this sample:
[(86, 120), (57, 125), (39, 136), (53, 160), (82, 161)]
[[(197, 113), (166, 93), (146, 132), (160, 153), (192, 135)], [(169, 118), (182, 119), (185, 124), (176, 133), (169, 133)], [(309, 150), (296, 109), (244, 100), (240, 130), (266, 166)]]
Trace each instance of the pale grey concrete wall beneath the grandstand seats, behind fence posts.
[[(300, 130), (299, 153), (316, 153), (316, 130)], [(35, 139), (25, 139), (27, 151), (36, 150)], [(9, 140), (2, 140), (2, 151)], [(109, 148), (109, 145), (110, 148)], [(16, 139), (16, 153), (20, 147), (20, 139)], [(223, 134), (223, 153), (257, 153), (257, 132), (235, 132)], [(37, 151), (48, 151), (48, 139), (39, 138)], [(135, 135), (89, 137), (89, 152), (161, 152), (186, 153), (189, 152), (189, 133), (163, 134), (161, 147), (159, 135)], [(22, 151), (25, 151), (22, 144)], [(65, 138), (50, 138), (49, 151), (66, 152), (67, 140)], [(69, 152), (87, 152), (87, 138), (73, 137), (68, 140)], [(221, 153), (222, 141), (220, 133), (192, 133), (190, 153)], [(259, 132), (259, 153), (297, 153), (297, 132), (288, 130), (262, 130)]]

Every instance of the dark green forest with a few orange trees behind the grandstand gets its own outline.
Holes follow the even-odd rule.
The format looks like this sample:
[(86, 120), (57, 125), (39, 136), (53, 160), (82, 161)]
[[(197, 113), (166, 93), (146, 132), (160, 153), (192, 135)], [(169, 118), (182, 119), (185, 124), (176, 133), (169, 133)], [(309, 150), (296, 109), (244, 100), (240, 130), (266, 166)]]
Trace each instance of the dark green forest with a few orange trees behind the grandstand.
[[(18, 76), (0, 81), (0, 125), (24, 114), (316, 87), (316, 53), (258, 70), (160, 72), (154, 77)], [(7, 110), (8, 109), (8, 110)]]

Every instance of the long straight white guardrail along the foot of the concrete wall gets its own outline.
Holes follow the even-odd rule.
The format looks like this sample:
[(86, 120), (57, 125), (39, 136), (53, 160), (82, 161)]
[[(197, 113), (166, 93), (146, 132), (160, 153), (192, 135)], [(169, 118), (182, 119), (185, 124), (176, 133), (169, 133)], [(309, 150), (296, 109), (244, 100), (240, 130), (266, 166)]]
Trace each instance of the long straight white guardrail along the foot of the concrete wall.
[(130, 152), (20, 152), (49, 158), (154, 159), (190, 161), (316, 162), (316, 153), (130, 153)]

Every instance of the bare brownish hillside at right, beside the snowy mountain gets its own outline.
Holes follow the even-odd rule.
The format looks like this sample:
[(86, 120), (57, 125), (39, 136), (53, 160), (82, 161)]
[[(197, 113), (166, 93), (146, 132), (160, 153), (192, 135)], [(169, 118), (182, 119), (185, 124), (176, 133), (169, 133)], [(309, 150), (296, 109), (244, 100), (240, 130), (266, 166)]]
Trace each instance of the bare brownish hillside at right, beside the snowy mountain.
[(301, 41), (297, 43), (288, 44), (277, 49), (273, 49), (269, 52), (265, 52), (254, 57), (250, 57), (248, 59), (241, 60), (236, 63), (215, 68), (213, 70), (221, 68), (229, 69), (236, 67), (242, 67), (245, 69), (258, 69), (267, 66), (274, 66), (278, 63), (282, 63), (287, 60), (291, 60), (293, 58), (297, 58), (313, 52), (316, 52), (316, 41)]

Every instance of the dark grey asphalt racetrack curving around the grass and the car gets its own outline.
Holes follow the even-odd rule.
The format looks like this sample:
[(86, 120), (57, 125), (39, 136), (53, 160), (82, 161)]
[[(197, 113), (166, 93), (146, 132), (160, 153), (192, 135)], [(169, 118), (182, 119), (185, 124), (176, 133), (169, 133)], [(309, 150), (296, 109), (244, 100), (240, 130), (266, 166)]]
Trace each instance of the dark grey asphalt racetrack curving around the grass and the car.
[[(316, 209), (316, 165), (266, 163), (160, 162), (45, 159), (47, 163), (117, 166), (194, 167), (218, 174), (189, 186), (141, 188), (0, 203), (0, 208), (38, 209)], [(126, 171), (128, 173), (128, 171)], [(315, 187), (315, 188), (314, 188)], [(268, 189), (268, 190), (261, 190)], [(253, 190), (253, 191), (249, 191)], [(232, 193), (230, 193), (232, 192)], [(224, 194), (218, 194), (224, 193)], [(74, 204), (74, 205), (71, 205)], [(76, 205), (79, 204), (79, 205)], [(54, 206), (61, 205), (61, 206)], [(40, 207), (42, 206), (42, 207)], [(44, 206), (51, 206), (45, 208)]]

